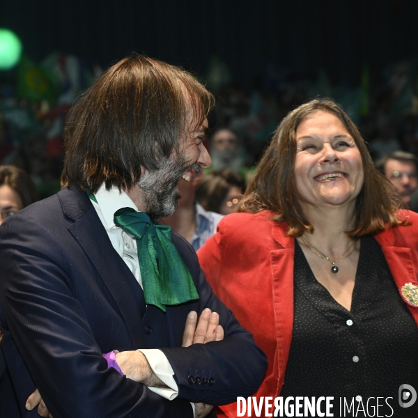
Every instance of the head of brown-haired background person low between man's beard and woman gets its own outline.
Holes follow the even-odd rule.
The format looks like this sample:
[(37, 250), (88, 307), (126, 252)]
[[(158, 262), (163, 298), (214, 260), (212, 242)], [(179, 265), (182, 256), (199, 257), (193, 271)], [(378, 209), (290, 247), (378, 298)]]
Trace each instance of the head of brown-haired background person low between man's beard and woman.
[(245, 192), (245, 181), (232, 170), (210, 171), (196, 188), (196, 199), (211, 212), (229, 215), (238, 210), (238, 203)]

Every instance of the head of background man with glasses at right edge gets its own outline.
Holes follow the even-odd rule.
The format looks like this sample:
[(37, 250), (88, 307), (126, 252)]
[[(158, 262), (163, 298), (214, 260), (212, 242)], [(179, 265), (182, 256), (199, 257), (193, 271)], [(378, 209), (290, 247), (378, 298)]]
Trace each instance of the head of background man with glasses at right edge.
[(376, 168), (396, 187), (406, 208), (418, 189), (418, 158), (405, 151), (395, 151), (376, 163)]

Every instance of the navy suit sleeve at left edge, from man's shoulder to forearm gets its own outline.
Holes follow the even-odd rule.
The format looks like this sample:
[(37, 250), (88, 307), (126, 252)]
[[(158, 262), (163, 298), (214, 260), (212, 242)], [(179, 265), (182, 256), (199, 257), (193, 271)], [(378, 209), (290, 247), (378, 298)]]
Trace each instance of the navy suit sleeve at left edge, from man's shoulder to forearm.
[(18, 215), (1, 226), (3, 349), (12, 377), (24, 380), (14, 382), (22, 416), (38, 416), (24, 410), (38, 387), (54, 418), (192, 418), (188, 401), (168, 401), (107, 369), (64, 263), (65, 248), (44, 227)]

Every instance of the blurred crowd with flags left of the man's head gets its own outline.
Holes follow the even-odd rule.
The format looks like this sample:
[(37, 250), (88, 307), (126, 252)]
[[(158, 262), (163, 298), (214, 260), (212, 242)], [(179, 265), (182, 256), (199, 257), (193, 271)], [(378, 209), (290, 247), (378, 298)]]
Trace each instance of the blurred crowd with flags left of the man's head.
[(99, 74), (64, 54), (40, 64), (22, 56), (0, 74), (0, 164), (29, 173), (41, 199), (59, 190), (65, 114)]

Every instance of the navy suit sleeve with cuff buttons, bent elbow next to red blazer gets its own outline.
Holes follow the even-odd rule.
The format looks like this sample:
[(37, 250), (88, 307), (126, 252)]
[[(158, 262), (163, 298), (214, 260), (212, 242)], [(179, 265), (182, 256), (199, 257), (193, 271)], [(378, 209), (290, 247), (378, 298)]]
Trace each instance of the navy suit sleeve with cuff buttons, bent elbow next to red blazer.
[[(187, 348), (162, 348), (169, 359), (178, 382), (178, 396), (191, 402), (224, 405), (235, 402), (237, 396), (251, 396), (261, 385), (267, 359), (256, 346), (252, 335), (240, 326), (233, 313), (213, 293), (205, 279), (192, 247), (185, 259), (199, 292), (199, 313), (206, 307), (219, 314), (224, 327), (223, 341), (193, 344)], [(181, 254), (181, 253), (180, 253)], [(183, 254), (184, 256), (184, 254)], [(190, 379), (192, 376), (194, 379)], [(211, 379), (202, 385), (201, 379)], [(196, 381), (196, 378), (200, 378)], [(193, 381), (194, 380), (194, 381)]]

